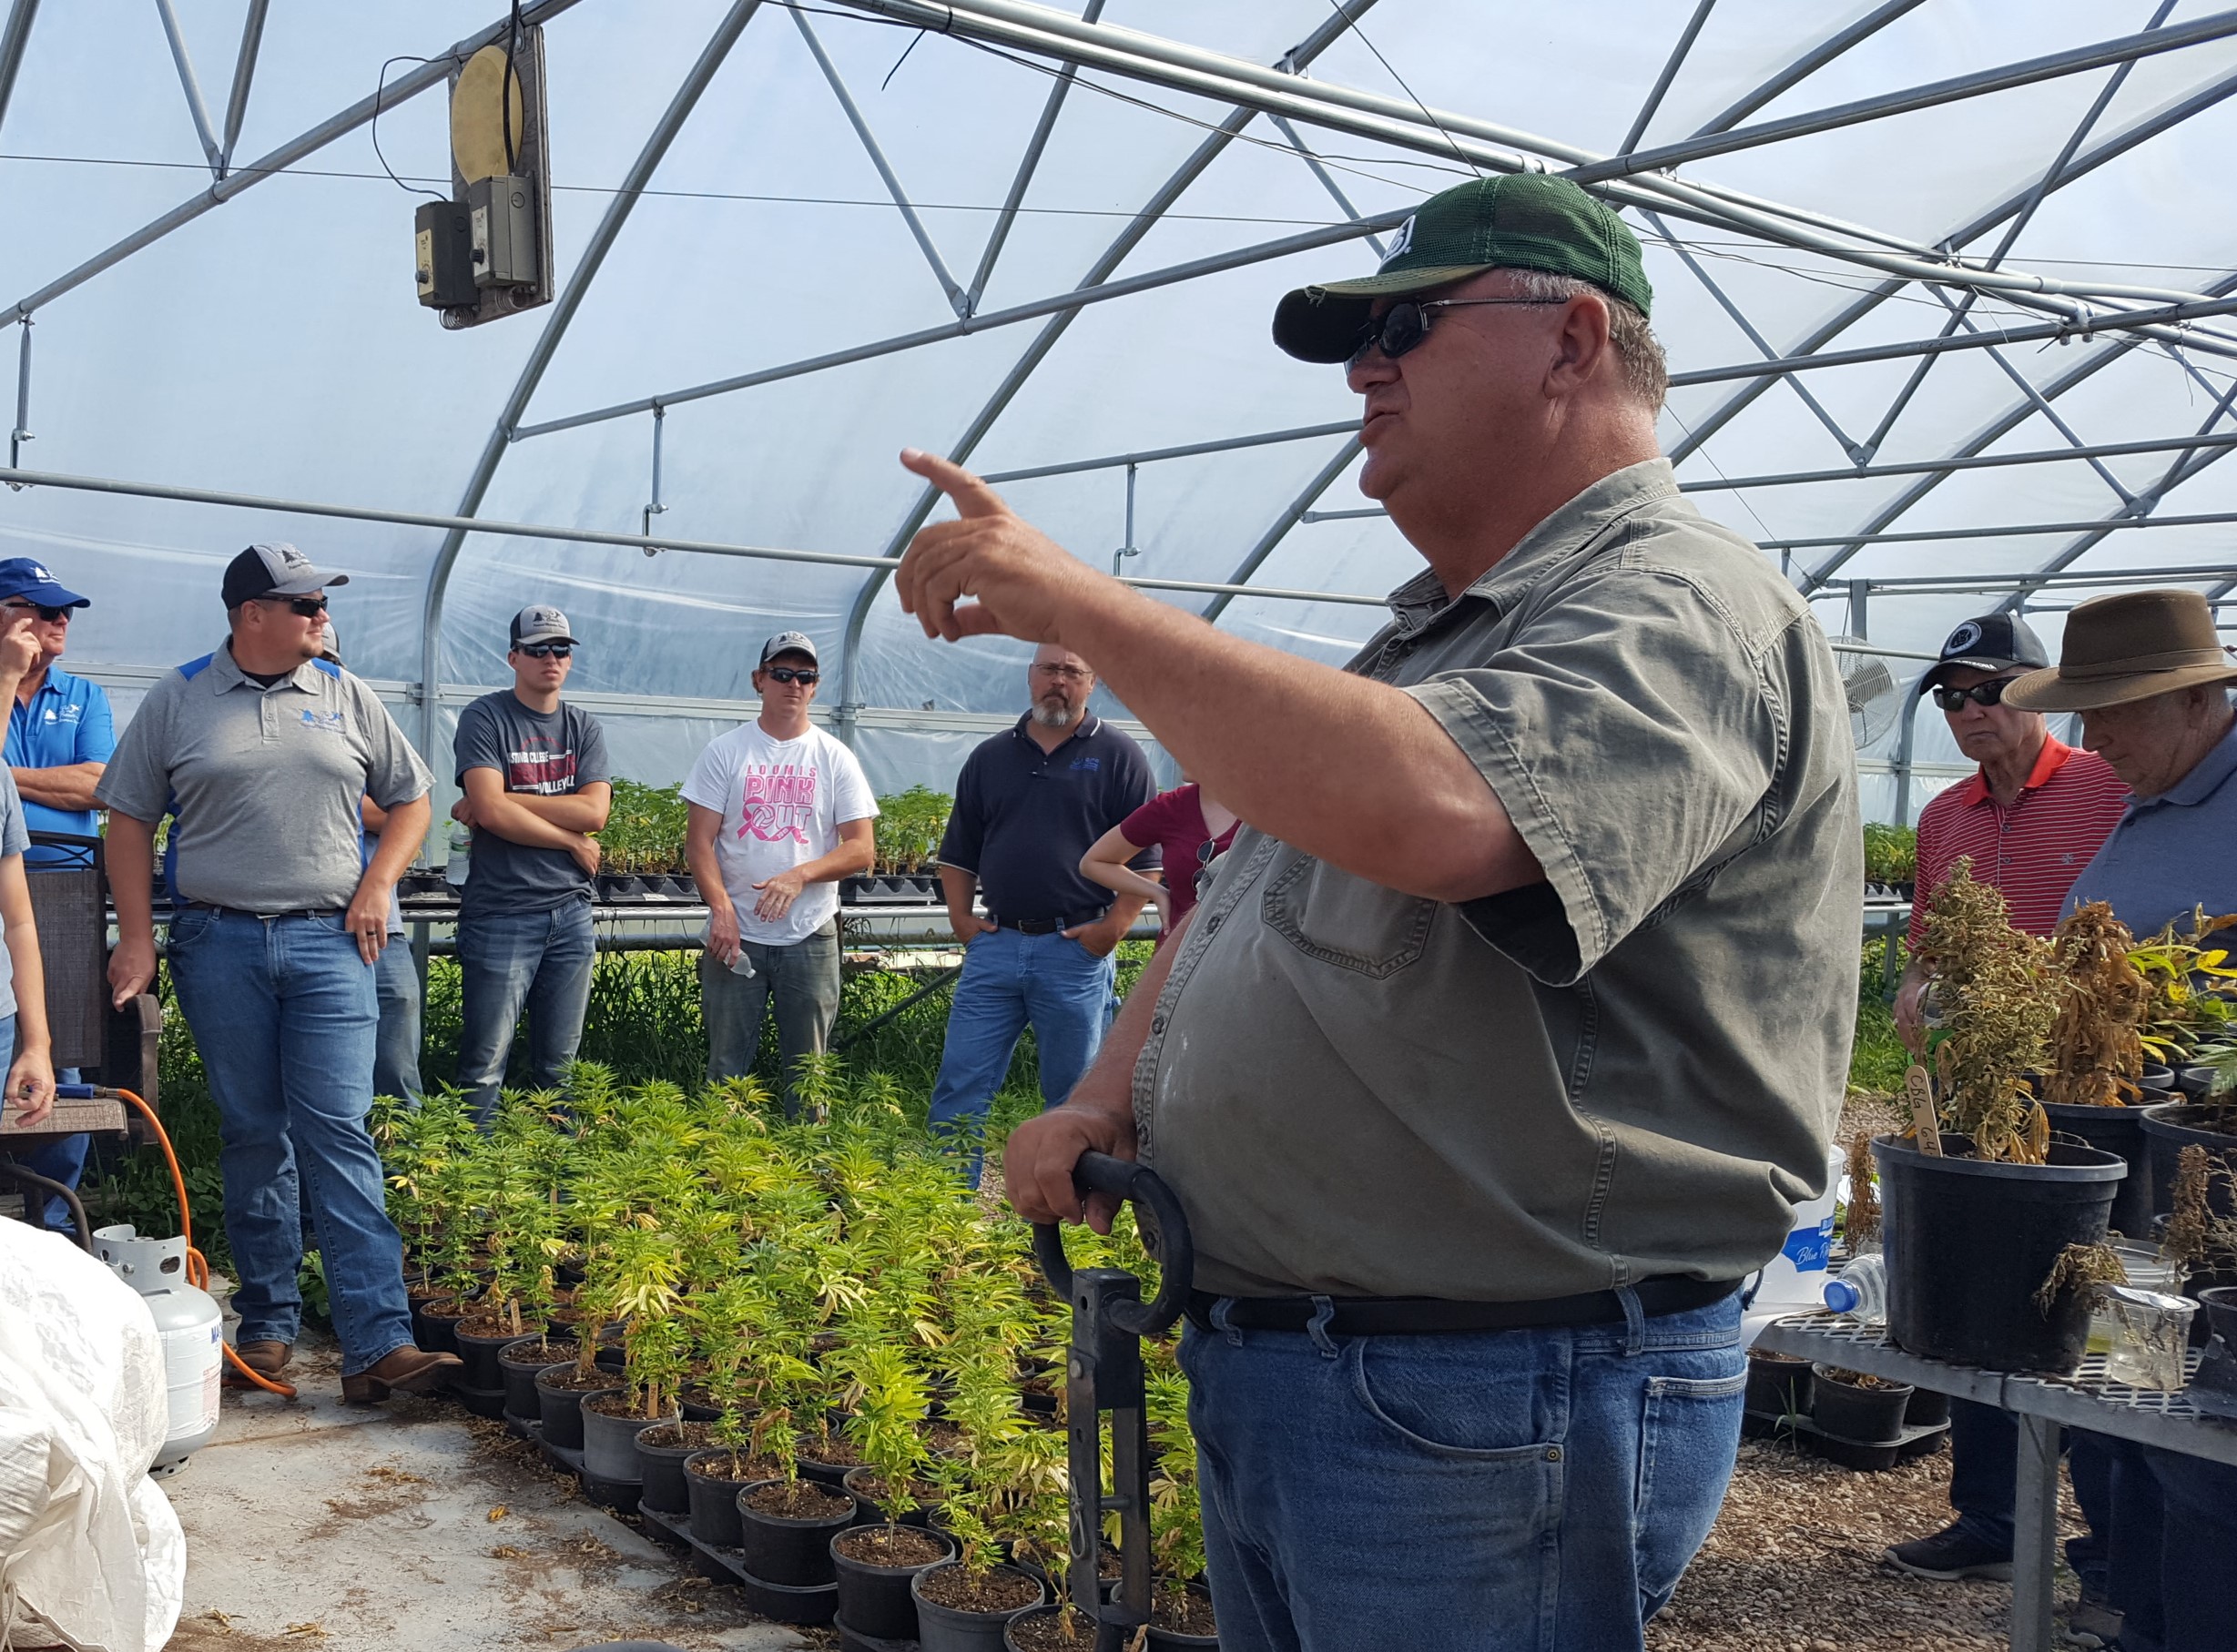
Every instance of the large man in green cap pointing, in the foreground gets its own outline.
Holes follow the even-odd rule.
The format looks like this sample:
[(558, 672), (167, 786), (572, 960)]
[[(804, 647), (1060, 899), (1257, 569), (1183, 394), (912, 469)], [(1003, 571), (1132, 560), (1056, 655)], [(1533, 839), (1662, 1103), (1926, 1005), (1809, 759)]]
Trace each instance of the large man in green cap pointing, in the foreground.
[(1244, 829), (1096, 1066), (1007, 1149), (1188, 1212), (1219, 1643), (1617, 1652), (1738, 1449), (1740, 1281), (1825, 1185), (1863, 856), (1841, 677), (1658, 456), (1637, 241), (1579, 188), (1425, 201), (1282, 300), (1427, 570), (1347, 671), (1078, 561), (975, 476), (926, 635), (1076, 651)]

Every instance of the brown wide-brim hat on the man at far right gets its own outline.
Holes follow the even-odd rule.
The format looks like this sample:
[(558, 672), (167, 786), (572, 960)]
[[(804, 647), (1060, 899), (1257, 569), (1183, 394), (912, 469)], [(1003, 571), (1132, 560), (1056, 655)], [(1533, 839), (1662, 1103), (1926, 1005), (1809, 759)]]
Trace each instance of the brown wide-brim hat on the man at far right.
[(2215, 613), (2194, 590), (2127, 590), (2067, 615), (2058, 664), (2004, 689), (2020, 711), (2096, 711), (2130, 700), (2237, 682)]

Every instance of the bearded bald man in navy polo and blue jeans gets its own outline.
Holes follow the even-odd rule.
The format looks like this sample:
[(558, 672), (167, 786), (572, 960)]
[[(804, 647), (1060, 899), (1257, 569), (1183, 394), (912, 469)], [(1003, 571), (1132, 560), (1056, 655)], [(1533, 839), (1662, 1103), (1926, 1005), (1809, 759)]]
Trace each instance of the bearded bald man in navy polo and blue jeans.
[[(1080, 876), (1080, 856), (1157, 794), (1150, 760), (1087, 713), (1096, 673), (1047, 644), (1027, 675), (1033, 709), (982, 742), (955, 780), (940, 890), (964, 948), (933, 1086), (935, 1131), (978, 1131), (1031, 1024), (1040, 1100), (1063, 1102), (1116, 1008), (1112, 950), (1141, 912)], [(1130, 865), (1150, 872), (1157, 849)], [(987, 917), (971, 910), (987, 894)], [(978, 1156), (971, 1160), (978, 1180)]]

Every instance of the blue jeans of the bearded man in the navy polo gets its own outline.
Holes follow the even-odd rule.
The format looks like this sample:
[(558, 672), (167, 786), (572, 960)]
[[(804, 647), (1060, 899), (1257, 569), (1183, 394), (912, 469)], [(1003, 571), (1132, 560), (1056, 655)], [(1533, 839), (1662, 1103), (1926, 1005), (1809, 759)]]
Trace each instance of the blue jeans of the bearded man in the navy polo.
[[(933, 1084), (933, 1129), (978, 1131), (1009, 1075), (1018, 1035), (1033, 1028), (1040, 1102), (1056, 1107), (1103, 1048), (1116, 1001), (1118, 968), (1063, 934), (993, 930), (964, 948), (964, 972), (948, 1004), (948, 1039)], [(978, 1185), (978, 1156), (971, 1162)]]

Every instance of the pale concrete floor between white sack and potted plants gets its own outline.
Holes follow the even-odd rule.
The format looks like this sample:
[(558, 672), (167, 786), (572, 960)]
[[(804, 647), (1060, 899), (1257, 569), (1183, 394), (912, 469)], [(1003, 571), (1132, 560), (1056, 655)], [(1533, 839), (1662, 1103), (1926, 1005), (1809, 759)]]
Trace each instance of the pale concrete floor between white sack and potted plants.
[(342, 1406), (333, 1346), (300, 1399), (226, 1390), (217, 1440), (163, 1480), (186, 1527), (174, 1652), (494, 1652), (830, 1643), (756, 1621), (573, 1478), (447, 1399)]

